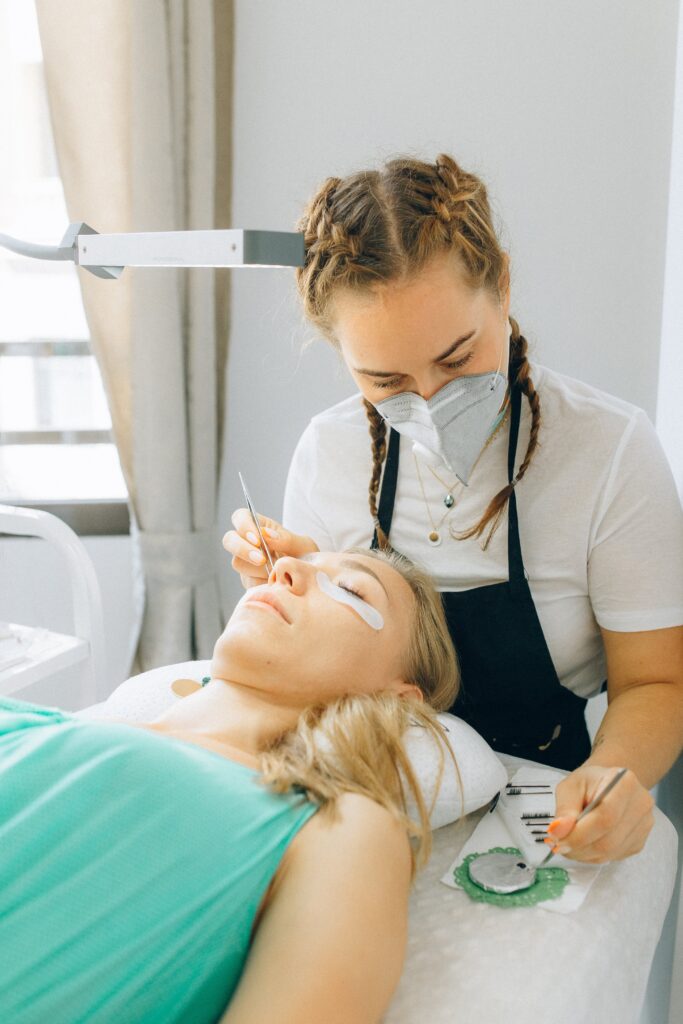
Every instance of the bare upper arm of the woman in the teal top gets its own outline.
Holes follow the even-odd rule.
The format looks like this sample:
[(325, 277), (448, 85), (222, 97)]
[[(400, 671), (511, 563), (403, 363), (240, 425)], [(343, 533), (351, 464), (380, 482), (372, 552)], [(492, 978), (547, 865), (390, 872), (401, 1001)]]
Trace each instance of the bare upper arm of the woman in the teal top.
[[(356, 794), (304, 825), (219, 1024), (378, 1024), (408, 938), (403, 827)], [(301, 842), (299, 842), (301, 841)]]

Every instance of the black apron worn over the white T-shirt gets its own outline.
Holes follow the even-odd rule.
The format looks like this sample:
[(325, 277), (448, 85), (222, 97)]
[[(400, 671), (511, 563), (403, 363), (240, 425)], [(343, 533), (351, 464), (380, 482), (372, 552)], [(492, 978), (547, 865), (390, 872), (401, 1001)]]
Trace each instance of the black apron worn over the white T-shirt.
[[(521, 391), (512, 389), (508, 480), (514, 474)], [(398, 475), (399, 434), (391, 430), (378, 519), (389, 536)], [(378, 547), (377, 531), (372, 543)], [(442, 592), (461, 671), (452, 715), (495, 751), (572, 771), (588, 758), (587, 700), (562, 686), (543, 635), (522, 562), (517, 502), (508, 502), (507, 583)], [(604, 685), (603, 685), (604, 688)]]

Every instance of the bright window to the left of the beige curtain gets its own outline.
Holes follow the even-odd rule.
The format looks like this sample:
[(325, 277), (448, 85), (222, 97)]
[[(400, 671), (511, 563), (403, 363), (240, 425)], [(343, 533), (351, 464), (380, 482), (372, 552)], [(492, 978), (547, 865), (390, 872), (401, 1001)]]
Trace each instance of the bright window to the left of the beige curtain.
[[(0, 122), (8, 142), (0, 150), (0, 232), (55, 245), (69, 217), (33, 0), (0, 0)], [(56, 505), (72, 522), (69, 510), (80, 506), (81, 531), (95, 531), (86, 521), (93, 527), (93, 517), (97, 532), (105, 521), (108, 532), (127, 531), (111, 431), (76, 267), (0, 248), (0, 502)]]

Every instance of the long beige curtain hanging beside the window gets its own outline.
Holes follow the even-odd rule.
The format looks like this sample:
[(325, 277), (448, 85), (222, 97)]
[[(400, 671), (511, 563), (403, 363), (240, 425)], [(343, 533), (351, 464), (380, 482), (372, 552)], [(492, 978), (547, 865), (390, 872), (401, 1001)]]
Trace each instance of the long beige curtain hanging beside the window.
[[(228, 227), (232, 0), (37, 0), (70, 220)], [(132, 671), (209, 657), (222, 624), (216, 498), (227, 270), (79, 270), (130, 495)]]

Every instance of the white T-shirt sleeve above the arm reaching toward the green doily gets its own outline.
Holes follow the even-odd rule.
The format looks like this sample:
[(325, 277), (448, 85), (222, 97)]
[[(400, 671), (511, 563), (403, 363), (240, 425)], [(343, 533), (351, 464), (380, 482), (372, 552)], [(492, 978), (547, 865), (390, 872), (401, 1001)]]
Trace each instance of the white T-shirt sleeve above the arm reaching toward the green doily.
[(588, 584), (603, 629), (683, 624), (683, 510), (664, 449), (641, 410), (624, 431), (598, 499)]

